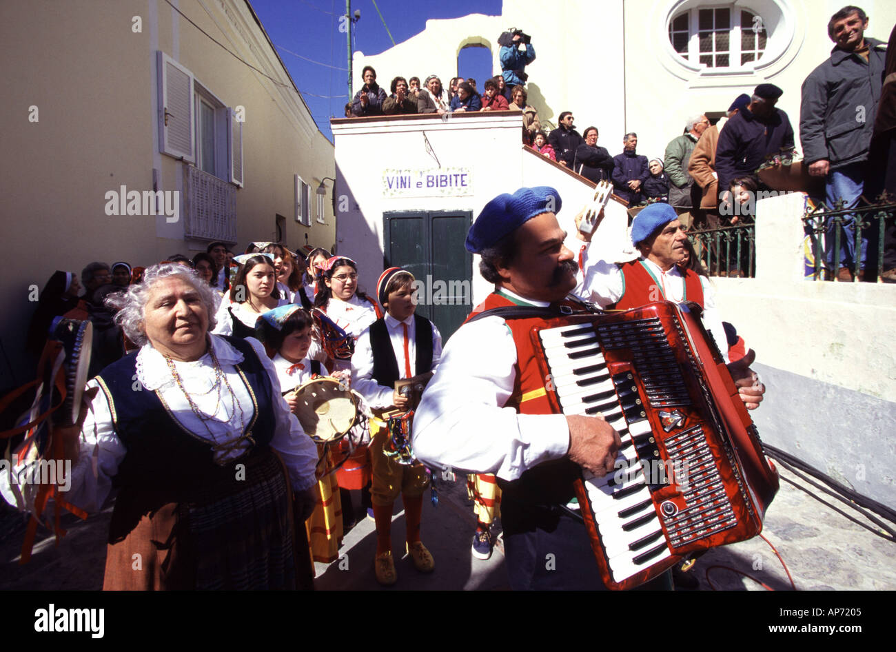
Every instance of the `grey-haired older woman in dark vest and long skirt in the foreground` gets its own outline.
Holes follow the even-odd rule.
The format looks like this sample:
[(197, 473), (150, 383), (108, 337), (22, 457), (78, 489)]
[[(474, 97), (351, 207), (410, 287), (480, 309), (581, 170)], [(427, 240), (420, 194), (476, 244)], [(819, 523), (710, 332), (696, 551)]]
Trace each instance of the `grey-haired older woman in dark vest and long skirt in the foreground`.
[(314, 509), (314, 442), (261, 344), (210, 334), (217, 300), (193, 270), (166, 263), (114, 299), (140, 349), (88, 383), (90, 410), (63, 432), (67, 500), (99, 510), (118, 492), (104, 588), (310, 583), (301, 526)]

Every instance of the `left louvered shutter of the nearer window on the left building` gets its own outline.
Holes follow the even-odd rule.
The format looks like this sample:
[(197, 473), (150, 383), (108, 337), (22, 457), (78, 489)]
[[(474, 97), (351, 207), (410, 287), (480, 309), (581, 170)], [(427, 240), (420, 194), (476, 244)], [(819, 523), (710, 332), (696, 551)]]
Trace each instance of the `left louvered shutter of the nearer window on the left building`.
[(159, 150), (196, 162), (193, 73), (159, 50)]

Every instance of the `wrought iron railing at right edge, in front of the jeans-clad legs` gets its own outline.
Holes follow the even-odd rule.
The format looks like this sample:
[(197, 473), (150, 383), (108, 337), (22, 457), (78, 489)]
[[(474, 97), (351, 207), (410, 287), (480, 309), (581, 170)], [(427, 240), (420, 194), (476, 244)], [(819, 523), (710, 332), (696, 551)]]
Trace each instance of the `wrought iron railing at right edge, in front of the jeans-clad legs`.
[[(807, 208), (803, 216), (811, 252), (807, 277), (880, 280), (884, 271), (884, 234), (887, 223), (892, 224), (894, 213), (896, 202), (883, 197), (877, 202), (868, 202), (862, 196), (852, 206), (840, 200), (833, 208), (823, 203)], [(863, 237), (867, 242), (866, 260), (858, 255)], [(840, 252), (840, 256), (832, 255), (834, 252)], [(849, 271), (844, 273), (844, 268)]]

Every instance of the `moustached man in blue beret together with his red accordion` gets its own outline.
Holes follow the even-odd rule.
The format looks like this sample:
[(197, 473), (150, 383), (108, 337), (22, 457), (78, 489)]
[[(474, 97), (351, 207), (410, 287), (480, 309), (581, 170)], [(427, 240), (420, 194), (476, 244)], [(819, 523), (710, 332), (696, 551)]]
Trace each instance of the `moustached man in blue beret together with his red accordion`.
[[(632, 499), (634, 502), (626, 502), (625, 516), (637, 517), (635, 527), (642, 528), (648, 520), (656, 521), (659, 536), (654, 530), (645, 533), (644, 529), (639, 529), (639, 536), (633, 541), (604, 541), (601, 538), (605, 528), (601, 525), (602, 521), (595, 521), (593, 513), (606, 510), (588, 502), (587, 485), (589, 482), (591, 485), (598, 484), (593, 482), (595, 477), (606, 478), (607, 482), (612, 479), (616, 474), (607, 472), (619, 470), (616, 459), (625, 459), (626, 476), (636, 475), (634, 461), (667, 459), (664, 457), (668, 455), (665, 442), (658, 437), (654, 437), (654, 442), (646, 442), (643, 439), (645, 435), (650, 439), (658, 431), (663, 432), (664, 423), (677, 422), (672, 434), (685, 433), (684, 436), (690, 438), (688, 442), (697, 442), (700, 435), (696, 434), (694, 427), (701, 428), (701, 432), (705, 433), (722, 418), (732, 424), (740, 421), (737, 438), (742, 440), (741, 443), (745, 442), (751, 464), (758, 467), (749, 469), (751, 479), (754, 479), (753, 476), (764, 479), (757, 487), (748, 486), (746, 471), (731, 470), (727, 466), (716, 475), (726, 476), (728, 481), (734, 478), (734, 488), (724, 490), (728, 502), (737, 502), (731, 510), (753, 515), (752, 520), (745, 519), (750, 522), (742, 523), (742, 528), (752, 528), (754, 531), (761, 528), (762, 510), (777, 488), (777, 476), (762, 457), (758, 439), (747, 424), (748, 417), (744, 421), (746, 413), (743, 405), (737, 406), (734, 383), (730, 377), (726, 381), (719, 373), (719, 366), (724, 369), (724, 365), (718, 356), (712, 356), (711, 346), (707, 347), (704, 342), (696, 350), (693, 347), (687, 349), (690, 351), (688, 353), (679, 345), (685, 339), (690, 341), (696, 336), (649, 336), (648, 339), (654, 344), (659, 345), (660, 339), (666, 342), (661, 348), (667, 358), (668, 355), (672, 356), (672, 361), (666, 359), (665, 362), (678, 365), (685, 372), (685, 379), (673, 383), (676, 384), (673, 389), (691, 401), (690, 406), (660, 405), (657, 392), (661, 394), (664, 390), (658, 388), (656, 378), (649, 377), (650, 382), (643, 382), (642, 370), (646, 368), (643, 361), (626, 362), (622, 359), (625, 355), (632, 355), (632, 346), (604, 350), (603, 336), (598, 336), (597, 330), (600, 328), (598, 324), (607, 318), (595, 318), (593, 315), (561, 317), (557, 312), (558, 305), (575, 285), (577, 266), (573, 262), (573, 253), (563, 244), (565, 234), (557, 224), (554, 212), (559, 207), (560, 200), (553, 189), (524, 188), (512, 195), (500, 195), (489, 202), (470, 228), (467, 248), (482, 255), (480, 271), (487, 280), (495, 283), (495, 293), (474, 311), (485, 313), (485, 316), (468, 320), (445, 347), (439, 370), (418, 408), (413, 443), (418, 457), (435, 466), (495, 473), (498, 476), (499, 484), (504, 489), (504, 550), (512, 588), (631, 588), (658, 577), (677, 559), (706, 547), (707, 543), (705, 537), (694, 535), (694, 528), (685, 531), (676, 529), (677, 520), (667, 525), (668, 519), (676, 519), (691, 509), (686, 500), (683, 502), (680, 496), (671, 495), (681, 493), (678, 491), (681, 487), (676, 485), (665, 489), (646, 487), (647, 495), (639, 494)], [(689, 319), (683, 316), (687, 313), (675, 305), (664, 303), (658, 306), (659, 313), (662, 313), (659, 315), (660, 324), (649, 329), (649, 333), (655, 333), (658, 329), (666, 333), (676, 320), (682, 322)], [(495, 308), (515, 311), (515, 314), (504, 318), (500, 312), (488, 312)], [(573, 312), (570, 307), (566, 310)], [(608, 319), (616, 323), (625, 319), (639, 322), (654, 318), (657, 315), (633, 314), (629, 318), (614, 315)], [(690, 321), (694, 330), (702, 330), (699, 320)], [(588, 325), (581, 326), (582, 322)], [(554, 382), (555, 376), (559, 379), (562, 375), (562, 365), (557, 366), (550, 356), (538, 350), (545, 348), (539, 333), (561, 326), (570, 330), (568, 326), (577, 324), (581, 329), (595, 331), (593, 338), (584, 338), (592, 340), (585, 345), (587, 353), (584, 355), (592, 356), (589, 358), (591, 364), (585, 366), (598, 366), (596, 356), (606, 353), (607, 369), (597, 370), (598, 376), (593, 382), (598, 383), (599, 390), (582, 394), (588, 397), (596, 394), (597, 397), (592, 398), (598, 403), (585, 407), (582, 412), (566, 414)], [(634, 330), (642, 329), (637, 327)], [(705, 339), (705, 335), (702, 337)], [(593, 350), (595, 345), (599, 348), (598, 352)], [(611, 343), (609, 346), (615, 345)], [(634, 348), (640, 346), (637, 344)], [(627, 350), (622, 350), (625, 348)], [(694, 369), (701, 363), (691, 364), (688, 356), (705, 356), (707, 361), (711, 358), (715, 374), (710, 379), (698, 379)], [(574, 363), (570, 366), (575, 368)], [(632, 378), (627, 378), (628, 375)], [(606, 384), (607, 380), (609, 384)], [(631, 380), (636, 382), (628, 383)], [(706, 404), (706, 394), (711, 390), (704, 390), (704, 386), (708, 385), (719, 395), (717, 402), (710, 401), (711, 407)], [(616, 407), (610, 406), (611, 398), (616, 401)], [(675, 400), (671, 399), (672, 402)], [(679, 396), (678, 401), (681, 400)], [(647, 408), (644, 417), (629, 414), (638, 402)], [(597, 409), (590, 410), (590, 407)], [(607, 420), (597, 418), (604, 410), (610, 417), (607, 420), (612, 420), (618, 430), (608, 425)], [(719, 416), (719, 411), (725, 415)], [(660, 416), (660, 412), (672, 414)], [(700, 420), (696, 413), (701, 413), (704, 419), (709, 417), (711, 425), (698, 426)], [(625, 417), (623, 421), (619, 420), (619, 415)], [(631, 422), (629, 416), (632, 416)], [(646, 431), (645, 424), (640, 423), (645, 420), (648, 425)], [(727, 424), (725, 422), (726, 427)], [(728, 431), (723, 436), (728, 437)], [(706, 447), (723, 458), (730, 457), (725, 452), (731, 448), (728, 440), (718, 443), (709, 442), (708, 438), (709, 435), (704, 444)], [(647, 450), (645, 443), (653, 444), (653, 448)], [(677, 443), (680, 442), (670, 442), (669, 447)], [(634, 456), (632, 450), (635, 451)], [(658, 454), (654, 455), (654, 451)], [(731, 453), (731, 456), (737, 458), (738, 454)], [(584, 473), (583, 468), (586, 469)], [(587, 469), (596, 471), (593, 474), (595, 477), (590, 477)], [(708, 472), (709, 466), (697, 470)], [(711, 482), (714, 483), (715, 479), (711, 478)], [(631, 495), (628, 492), (633, 491), (628, 486), (625, 489), (626, 493), (621, 498), (628, 498)], [(654, 498), (652, 494), (655, 491), (659, 493)], [(749, 507), (746, 506), (745, 496), (754, 499)], [(704, 502), (709, 501), (709, 507), (701, 503), (701, 510), (714, 509), (716, 502), (720, 502), (716, 501), (717, 493), (702, 498)], [(644, 519), (649, 515), (645, 501), (650, 501), (653, 513), (650, 519)], [(661, 510), (672, 509), (668, 503), (675, 506), (676, 513), (666, 515), (667, 520), (662, 520), (666, 516)], [(576, 504), (578, 513), (570, 513), (571, 510), (576, 511)], [(635, 507), (636, 511), (630, 511)], [(730, 538), (729, 520), (725, 516), (719, 522), (719, 527), (724, 526), (725, 529), (711, 536), (715, 539)], [(622, 525), (629, 523), (625, 521)], [(679, 538), (672, 539), (670, 531)], [(717, 543), (715, 539), (713, 545)], [(607, 560), (621, 554), (620, 547), (627, 548), (630, 544), (638, 545), (639, 552), (627, 555), (629, 565), (625, 571), (614, 571)], [(648, 545), (648, 548), (640, 550), (642, 545)], [(634, 560), (634, 557), (648, 552), (650, 555), (645, 560)], [(596, 553), (603, 554), (604, 562), (599, 561), (600, 554)], [(618, 560), (614, 560), (613, 565), (618, 566), (616, 562)]]

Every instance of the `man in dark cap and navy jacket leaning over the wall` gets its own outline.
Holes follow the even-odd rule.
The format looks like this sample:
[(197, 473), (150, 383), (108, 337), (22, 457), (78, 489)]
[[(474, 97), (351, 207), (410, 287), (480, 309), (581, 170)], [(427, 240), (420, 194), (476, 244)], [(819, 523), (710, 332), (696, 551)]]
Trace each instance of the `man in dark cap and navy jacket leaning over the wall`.
[(753, 177), (765, 158), (782, 148), (793, 149), (793, 127), (787, 114), (775, 108), (783, 94), (774, 84), (759, 84), (750, 103), (728, 120), (719, 133), (716, 148), (716, 173), (719, 175), (719, 199), (724, 202), (734, 179)]

